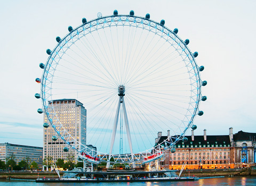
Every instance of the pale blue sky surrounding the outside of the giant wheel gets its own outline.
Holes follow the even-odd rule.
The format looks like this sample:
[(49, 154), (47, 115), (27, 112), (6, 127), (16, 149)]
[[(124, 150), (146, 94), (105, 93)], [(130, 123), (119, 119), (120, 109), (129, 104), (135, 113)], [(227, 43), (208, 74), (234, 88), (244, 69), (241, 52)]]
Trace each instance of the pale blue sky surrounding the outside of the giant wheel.
[[(254, 60), (256, 43), (255, 1), (3, 1), (0, 0), (0, 143), (43, 146), (42, 107), (34, 97), (39, 92), (35, 78), (41, 77), (39, 63), (45, 63), (47, 48), (57, 45), (56, 36), (68, 33), (68, 26), (81, 25), (82, 18), (129, 14), (160, 22), (178, 36), (189, 39), (197, 51), (202, 80), (208, 82), (207, 96), (197, 116), (195, 135), (256, 132)], [(188, 131), (187, 134), (190, 134)]]

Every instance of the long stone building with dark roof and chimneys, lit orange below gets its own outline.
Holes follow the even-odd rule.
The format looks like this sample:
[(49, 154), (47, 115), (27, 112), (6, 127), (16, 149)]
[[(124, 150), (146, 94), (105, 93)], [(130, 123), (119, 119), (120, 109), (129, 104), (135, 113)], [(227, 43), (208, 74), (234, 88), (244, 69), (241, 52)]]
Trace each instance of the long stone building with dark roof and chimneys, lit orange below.
[[(235, 168), (250, 166), (256, 160), (256, 133), (239, 131), (233, 134), (233, 128), (229, 129), (229, 135), (207, 136), (204, 130), (203, 136), (185, 136), (188, 141), (180, 140), (176, 145), (175, 153), (170, 149), (165, 151), (162, 166), (170, 169), (181, 169), (186, 164), (185, 169), (200, 168)], [(161, 143), (167, 136), (162, 136), (158, 132), (156, 143)]]

